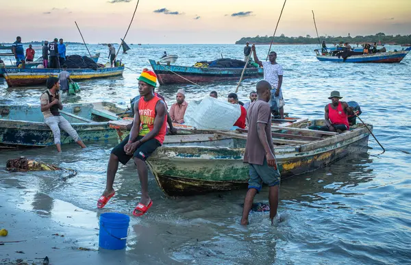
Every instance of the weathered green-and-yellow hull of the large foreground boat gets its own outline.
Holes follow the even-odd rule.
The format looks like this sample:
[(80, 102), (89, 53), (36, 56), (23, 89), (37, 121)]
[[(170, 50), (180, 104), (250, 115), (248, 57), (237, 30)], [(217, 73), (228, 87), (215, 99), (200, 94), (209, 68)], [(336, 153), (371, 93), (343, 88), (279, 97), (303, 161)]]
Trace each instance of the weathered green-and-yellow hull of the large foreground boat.
[[(369, 132), (362, 127), (335, 137), (337, 139), (333, 136), (334, 139), (325, 138), (299, 147), (275, 147), (282, 179), (314, 171), (366, 147)], [(245, 140), (243, 144), (245, 145)], [(236, 146), (238, 142), (233, 145)], [(249, 168), (242, 163), (245, 149), (233, 147), (182, 147), (164, 144), (147, 163), (160, 188), (170, 196), (247, 187)]]

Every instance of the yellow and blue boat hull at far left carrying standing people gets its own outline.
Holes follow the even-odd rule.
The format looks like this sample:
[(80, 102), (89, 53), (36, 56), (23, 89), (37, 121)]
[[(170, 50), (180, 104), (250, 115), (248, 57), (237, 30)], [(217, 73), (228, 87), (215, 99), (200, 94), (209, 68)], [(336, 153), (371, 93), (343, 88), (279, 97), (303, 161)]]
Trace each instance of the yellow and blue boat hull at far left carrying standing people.
[[(61, 69), (19, 69), (4, 68), (8, 86), (32, 86), (45, 84), (47, 78), (57, 77)], [(92, 69), (67, 69), (74, 81), (123, 75), (124, 66)]]

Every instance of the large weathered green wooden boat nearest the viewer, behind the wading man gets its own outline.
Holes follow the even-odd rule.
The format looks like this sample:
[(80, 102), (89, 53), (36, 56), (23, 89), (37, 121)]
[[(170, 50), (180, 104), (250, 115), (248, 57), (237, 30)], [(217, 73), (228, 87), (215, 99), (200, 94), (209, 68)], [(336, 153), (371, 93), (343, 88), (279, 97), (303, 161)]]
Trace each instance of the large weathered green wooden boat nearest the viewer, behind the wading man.
[[(317, 137), (320, 131), (279, 128), (273, 128), (273, 142), (282, 179), (332, 164), (366, 147), (369, 138), (363, 125), (343, 134), (322, 131), (324, 138)], [(242, 162), (246, 137), (226, 132), (168, 136), (147, 164), (160, 188), (170, 196), (246, 188), (249, 168)]]

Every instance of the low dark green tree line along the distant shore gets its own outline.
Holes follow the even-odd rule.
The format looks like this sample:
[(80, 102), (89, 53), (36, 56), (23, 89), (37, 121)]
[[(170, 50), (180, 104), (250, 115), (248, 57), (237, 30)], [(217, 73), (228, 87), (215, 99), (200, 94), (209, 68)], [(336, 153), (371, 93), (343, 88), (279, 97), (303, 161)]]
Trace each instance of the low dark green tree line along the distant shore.
[[(238, 45), (245, 45), (245, 42), (249, 42), (251, 44), (269, 44), (271, 43), (272, 36), (259, 36), (256, 37), (242, 37), (240, 40), (236, 41)], [(400, 34), (394, 35), (386, 35), (382, 32), (379, 32), (375, 35), (368, 35), (368, 36), (355, 36), (351, 37), (351, 34), (348, 36), (320, 36), (321, 42), (325, 40), (326, 43), (340, 43), (340, 42), (349, 42), (349, 43), (364, 43), (364, 42), (381, 42), (382, 44), (408, 44), (411, 43), (411, 35), (404, 35), (401, 36)], [(273, 42), (275, 43), (284, 43), (284, 44), (318, 44), (318, 38), (312, 38), (310, 35), (306, 37), (299, 36), (299, 37), (287, 37), (284, 34), (281, 34), (278, 37), (274, 37)]]

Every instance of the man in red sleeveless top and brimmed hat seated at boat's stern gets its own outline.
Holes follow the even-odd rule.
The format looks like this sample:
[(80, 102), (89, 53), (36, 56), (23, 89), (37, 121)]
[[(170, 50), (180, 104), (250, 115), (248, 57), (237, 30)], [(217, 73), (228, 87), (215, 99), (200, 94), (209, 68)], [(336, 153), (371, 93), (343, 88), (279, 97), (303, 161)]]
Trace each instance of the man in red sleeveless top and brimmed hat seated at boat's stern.
[(328, 99), (332, 103), (325, 105), (324, 124), (320, 131), (336, 131), (341, 133), (349, 129), (348, 115), (354, 115), (347, 102), (340, 101), (340, 92), (332, 91)]

